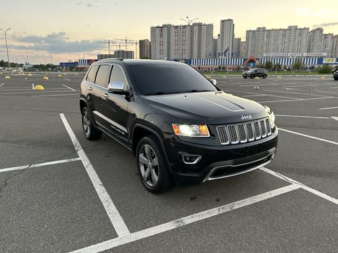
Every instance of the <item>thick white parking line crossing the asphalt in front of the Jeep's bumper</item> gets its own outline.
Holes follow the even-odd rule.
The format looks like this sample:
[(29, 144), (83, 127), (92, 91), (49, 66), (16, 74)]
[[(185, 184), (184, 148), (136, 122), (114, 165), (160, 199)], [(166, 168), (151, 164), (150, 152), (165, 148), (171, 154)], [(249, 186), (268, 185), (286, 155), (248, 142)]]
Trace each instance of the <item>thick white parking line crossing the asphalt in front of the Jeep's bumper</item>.
[(94, 252), (102, 252), (104, 250), (110, 250), (112, 248), (115, 248), (119, 245), (123, 245), (126, 243), (131, 243), (133, 241), (137, 241), (140, 239), (144, 239), (149, 236), (153, 236), (155, 234), (160, 234), (162, 232), (166, 232), (169, 230), (173, 230), (176, 228), (180, 228), (183, 225), (188, 225), (190, 223), (194, 223), (196, 221), (201, 221), (203, 219), (208, 219), (210, 217), (214, 217), (218, 214), (223, 214), (225, 212), (229, 212), (231, 210), (235, 210), (238, 208), (242, 208), (244, 206), (250, 206), (253, 203), (258, 203), (260, 201), (264, 201), (266, 199), (270, 199), (272, 197), (276, 197), (279, 195), (282, 195), (287, 192), (291, 192), (292, 190), (297, 190), (301, 188), (301, 186), (297, 184), (290, 184), (288, 186), (284, 186), (275, 190), (270, 190), (268, 192), (264, 192), (260, 195), (256, 195), (253, 197), (248, 197), (247, 199), (242, 199), (233, 203), (229, 203), (224, 206), (219, 206), (218, 208), (213, 208), (210, 210), (206, 210), (203, 212), (198, 212), (197, 214), (192, 214), (187, 217), (183, 217), (181, 219), (177, 219), (175, 221), (170, 221), (168, 223), (164, 223), (161, 225), (157, 225), (153, 228), (147, 228), (145, 230), (141, 230), (138, 232), (134, 232), (132, 234), (128, 234), (127, 236), (123, 236), (116, 239), (111, 239), (108, 241), (104, 241), (103, 243), (98, 243), (95, 245), (91, 245), (87, 248), (83, 248), (80, 250), (75, 250), (71, 253), (94, 253)]

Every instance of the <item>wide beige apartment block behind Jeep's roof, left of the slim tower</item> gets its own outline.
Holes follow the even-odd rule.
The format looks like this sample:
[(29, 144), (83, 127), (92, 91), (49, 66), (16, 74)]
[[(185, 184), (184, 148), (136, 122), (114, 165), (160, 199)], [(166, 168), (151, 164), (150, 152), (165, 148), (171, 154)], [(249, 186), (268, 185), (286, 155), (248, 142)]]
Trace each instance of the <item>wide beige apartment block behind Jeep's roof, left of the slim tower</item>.
[(213, 25), (160, 25), (150, 28), (152, 59), (212, 58)]

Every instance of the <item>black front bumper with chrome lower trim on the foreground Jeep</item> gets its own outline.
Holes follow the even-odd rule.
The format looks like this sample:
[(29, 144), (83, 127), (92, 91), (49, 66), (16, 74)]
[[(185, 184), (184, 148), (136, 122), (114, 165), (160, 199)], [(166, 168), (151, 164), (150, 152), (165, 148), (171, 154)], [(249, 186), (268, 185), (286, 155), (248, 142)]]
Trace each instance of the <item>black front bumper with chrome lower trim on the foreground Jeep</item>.
[[(230, 146), (203, 146), (187, 142), (166, 145), (172, 178), (177, 184), (232, 177), (268, 164), (277, 151), (278, 130), (255, 142)], [(182, 154), (200, 155), (196, 164), (185, 164)]]

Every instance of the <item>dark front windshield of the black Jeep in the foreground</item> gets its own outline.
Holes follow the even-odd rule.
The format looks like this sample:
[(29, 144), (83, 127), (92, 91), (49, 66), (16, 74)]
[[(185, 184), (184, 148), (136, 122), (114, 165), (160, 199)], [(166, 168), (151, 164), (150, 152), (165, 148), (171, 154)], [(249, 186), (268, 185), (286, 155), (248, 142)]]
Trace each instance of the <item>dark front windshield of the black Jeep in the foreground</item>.
[(208, 79), (188, 65), (131, 65), (136, 89), (143, 95), (217, 91)]

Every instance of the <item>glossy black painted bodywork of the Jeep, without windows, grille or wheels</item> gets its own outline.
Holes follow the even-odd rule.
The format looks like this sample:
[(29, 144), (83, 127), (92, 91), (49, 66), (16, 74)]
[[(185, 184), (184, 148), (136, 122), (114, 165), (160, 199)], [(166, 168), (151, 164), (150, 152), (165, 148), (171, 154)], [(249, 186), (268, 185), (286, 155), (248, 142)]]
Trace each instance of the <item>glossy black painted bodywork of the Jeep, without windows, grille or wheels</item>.
[[(81, 83), (81, 102), (86, 103), (90, 112), (99, 109), (110, 120), (117, 122), (123, 129), (112, 127), (108, 122), (92, 113), (96, 124), (104, 133), (117, 140), (135, 153), (133, 139), (138, 129), (146, 129), (157, 137), (170, 173), (178, 184), (199, 183), (215, 166), (235, 165), (248, 160), (267, 157), (277, 150), (277, 127), (272, 135), (245, 144), (223, 146), (220, 144), (216, 126), (245, 122), (242, 115), (251, 115), (252, 120), (269, 115), (266, 107), (252, 100), (239, 98), (219, 91), (190, 92), (186, 94), (168, 94), (143, 96), (137, 93), (128, 64), (156, 64), (158, 61), (112, 61), (105, 64), (118, 65), (123, 69), (128, 81), (128, 94), (111, 94), (106, 88), (86, 81)], [(182, 64), (164, 62), (165, 64)], [(93, 63), (98, 65), (100, 62)], [(161, 61), (163, 64), (163, 61)], [(88, 89), (89, 87), (92, 90)], [(108, 94), (108, 98), (103, 96)], [(198, 106), (196, 102), (198, 101)], [(80, 104), (81, 104), (80, 102)], [(83, 106), (83, 104), (81, 105)], [(172, 123), (207, 124), (210, 137), (182, 137), (175, 135)], [(182, 153), (202, 155), (201, 162), (187, 165), (181, 159)]]

